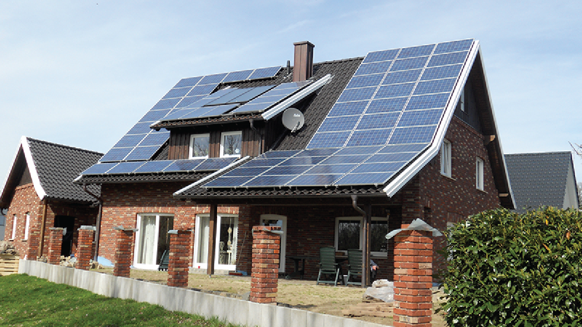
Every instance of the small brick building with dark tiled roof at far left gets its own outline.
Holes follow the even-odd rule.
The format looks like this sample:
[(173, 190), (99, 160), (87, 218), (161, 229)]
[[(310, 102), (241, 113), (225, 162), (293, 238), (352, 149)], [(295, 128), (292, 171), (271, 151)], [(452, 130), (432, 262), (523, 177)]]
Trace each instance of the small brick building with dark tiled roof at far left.
[[(101, 158), (98, 152), (67, 147), (23, 136), (0, 194), (0, 209), (8, 209), (4, 238), (13, 241), (20, 257), (35, 260), (48, 253), (48, 230), (66, 228), (62, 255), (77, 244), (77, 229), (95, 225), (98, 206), (74, 177)], [(87, 190), (96, 196), (100, 186)]]

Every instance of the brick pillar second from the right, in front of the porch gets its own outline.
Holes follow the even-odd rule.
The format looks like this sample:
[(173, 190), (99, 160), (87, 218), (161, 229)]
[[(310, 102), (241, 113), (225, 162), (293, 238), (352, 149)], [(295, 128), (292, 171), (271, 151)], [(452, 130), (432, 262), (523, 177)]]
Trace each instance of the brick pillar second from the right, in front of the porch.
[(276, 304), (281, 226), (253, 226), (253, 267), (249, 300)]

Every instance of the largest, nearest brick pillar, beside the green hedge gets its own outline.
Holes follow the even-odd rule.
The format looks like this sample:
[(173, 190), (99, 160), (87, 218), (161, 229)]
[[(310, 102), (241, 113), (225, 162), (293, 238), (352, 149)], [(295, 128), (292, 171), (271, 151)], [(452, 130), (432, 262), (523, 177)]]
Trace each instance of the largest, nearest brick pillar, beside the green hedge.
[(396, 234), (394, 268), (394, 327), (432, 326), (432, 232)]

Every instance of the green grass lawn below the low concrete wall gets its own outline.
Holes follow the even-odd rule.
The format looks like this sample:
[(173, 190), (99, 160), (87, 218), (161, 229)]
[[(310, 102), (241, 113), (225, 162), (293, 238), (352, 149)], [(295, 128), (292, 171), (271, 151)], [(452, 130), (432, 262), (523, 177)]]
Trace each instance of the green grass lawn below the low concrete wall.
[(0, 325), (16, 326), (234, 326), (218, 319), (168, 311), (29, 275), (0, 276)]

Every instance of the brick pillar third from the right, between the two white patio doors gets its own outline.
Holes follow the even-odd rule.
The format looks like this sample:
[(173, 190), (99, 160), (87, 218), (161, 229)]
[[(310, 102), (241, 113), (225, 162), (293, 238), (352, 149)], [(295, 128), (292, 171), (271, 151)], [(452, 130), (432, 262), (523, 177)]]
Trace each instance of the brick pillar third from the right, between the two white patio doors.
[(168, 286), (188, 286), (188, 265), (191, 230), (170, 230)]

